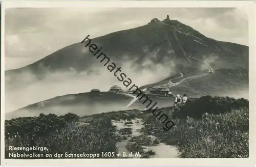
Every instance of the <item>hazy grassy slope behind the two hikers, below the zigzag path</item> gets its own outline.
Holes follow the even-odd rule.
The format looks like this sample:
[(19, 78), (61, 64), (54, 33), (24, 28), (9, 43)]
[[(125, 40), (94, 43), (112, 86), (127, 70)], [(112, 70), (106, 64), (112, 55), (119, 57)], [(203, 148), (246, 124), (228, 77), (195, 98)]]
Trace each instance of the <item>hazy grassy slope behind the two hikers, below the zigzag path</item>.
[[(183, 73), (184, 77), (194, 76), (195, 73)], [(203, 74), (197, 73), (198, 74)], [(178, 75), (179, 76), (179, 75)], [(160, 82), (156, 82), (155, 84), (149, 84), (146, 86), (140, 87), (140, 89), (160, 86), (167, 84), (169, 79), (172, 81), (180, 81), (183, 78), (173, 79), (177, 76), (172, 76), (167, 79), (164, 79)], [(236, 68), (236, 69), (218, 69), (214, 74), (208, 74), (203, 77), (198, 77), (195, 79), (187, 79), (183, 81), (178, 86), (173, 86), (172, 92), (174, 94), (188, 94), (189, 97), (200, 97), (205, 93), (210, 95), (219, 95), (223, 90), (226, 93), (232, 92), (234, 90), (241, 90), (241, 88), (248, 89), (248, 69), (244, 68)]]

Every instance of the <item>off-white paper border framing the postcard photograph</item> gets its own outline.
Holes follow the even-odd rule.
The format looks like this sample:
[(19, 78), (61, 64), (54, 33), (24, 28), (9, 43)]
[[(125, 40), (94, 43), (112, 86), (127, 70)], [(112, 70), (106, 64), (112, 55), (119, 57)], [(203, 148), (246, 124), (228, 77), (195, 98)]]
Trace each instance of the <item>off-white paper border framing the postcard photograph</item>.
[[(244, 7), (248, 10), (249, 20), (249, 158), (152, 158), (152, 159), (5, 159), (4, 154), (4, 117), (5, 117), (5, 8), (224, 8), (224, 7)], [(99, 1), (99, 2), (36, 2), (36, 1), (3, 1), (2, 2), (2, 61), (1, 61), (1, 165), (252, 165), (256, 163), (256, 104), (253, 103), (256, 99), (256, 52), (255, 52), (255, 39), (256, 39), (256, 3), (253, 2), (174, 2), (174, 1)], [(252, 56), (254, 55), (254, 56)], [(254, 86), (254, 87), (253, 87)], [(238, 116), (239, 117), (239, 116)], [(254, 157), (254, 158), (253, 158)]]

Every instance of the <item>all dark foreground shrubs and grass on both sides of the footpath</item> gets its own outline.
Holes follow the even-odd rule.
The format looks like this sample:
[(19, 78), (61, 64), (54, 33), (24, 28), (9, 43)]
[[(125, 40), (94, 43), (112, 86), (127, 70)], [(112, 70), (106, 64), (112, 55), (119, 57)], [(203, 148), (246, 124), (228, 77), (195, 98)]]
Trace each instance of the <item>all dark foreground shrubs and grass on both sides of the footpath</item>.
[[(144, 121), (141, 135), (131, 136), (126, 149), (134, 153), (140, 152), (142, 158), (150, 158), (155, 154), (152, 150), (144, 151), (143, 146), (156, 146), (159, 142), (177, 146), (181, 152), (180, 157), (185, 158), (248, 157), (248, 107), (248, 100), (243, 98), (203, 96), (189, 99), (180, 108), (160, 108), (176, 123), (169, 131), (163, 130), (161, 120), (156, 119), (150, 111), (141, 113), (139, 110), (82, 118), (74, 114), (59, 117), (40, 114), (39, 117), (11, 119), (5, 121), (5, 154), (9, 158), (9, 152), (15, 152), (9, 151), (8, 146), (38, 146), (47, 147), (46, 153), (51, 154), (99, 153), (99, 158), (102, 158), (101, 152), (115, 152), (116, 155), (119, 153), (117, 142), (125, 140), (124, 135), (131, 135), (131, 129), (120, 129), (118, 133), (124, 136), (120, 137), (112, 120), (129, 122), (140, 118)], [(157, 139), (152, 141), (148, 135), (154, 135)]]

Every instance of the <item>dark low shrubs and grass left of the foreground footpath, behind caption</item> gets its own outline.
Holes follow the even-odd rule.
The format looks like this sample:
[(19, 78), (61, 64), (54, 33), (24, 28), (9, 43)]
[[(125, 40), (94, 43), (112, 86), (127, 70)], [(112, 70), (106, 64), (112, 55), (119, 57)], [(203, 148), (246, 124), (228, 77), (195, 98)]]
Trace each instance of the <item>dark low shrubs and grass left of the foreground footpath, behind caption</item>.
[[(73, 120), (73, 121), (72, 121)], [(24, 151), (9, 151), (8, 146), (14, 147), (47, 147), (44, 154), (65, 153), (99, 153), (108, 150), (117, 153), (116, 143), (120, 138), (115, 134), (111, 119), (102, 116), (91, 120), (89, 125), (78, 126), (78, 117), (73, 114), (57, 117), (56, 115), (40, 115), (39, 117), (18, 118), (6, 121), (6, 158), (9, 153)], [(19, 125), (19, 126), (17, 126)], [(54, 128), (53, 128), (54, 127)], [(38, 129), (38, 131), (31, 131)], [(15, 136), (18, 134), (19, 136)], [(13, 136), (14, 135), (14, 136)], [(30, 151), (27, 153), (32, 153)], [(43, 152), (38, 152), (43, 153)], [(47, 157), (41, 157), (46, 159)], [(56, 158), (54, 156), (48, 158)], [(69, 158), (69, 157), (61, 157)], [(70, 157), (73, 158), (73, 157)], [(89, 157), (82, 157), (89, 158)], [(115, 157), (104, 157), (115, 158)], [(22, 158), (21, 158), (22, 159)], [(26, 157), (26, 159), (29, 159)], [(34, 159), (34, 157), (32, 157)]]

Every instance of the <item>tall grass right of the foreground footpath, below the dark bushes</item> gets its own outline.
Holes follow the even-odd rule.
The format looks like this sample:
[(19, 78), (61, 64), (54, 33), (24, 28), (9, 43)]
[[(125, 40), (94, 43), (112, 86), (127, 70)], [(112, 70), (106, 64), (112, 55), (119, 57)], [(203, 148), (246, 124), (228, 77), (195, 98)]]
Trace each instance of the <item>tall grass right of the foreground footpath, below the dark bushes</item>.
[[(249, 156), (248, 109), (232, 110), (221, 115), (175, 119), (169, 132), (147, 124), (146, 134), (154, 134), (167, 145), (175, 145), (184, 158), (239, 158)], [(153, 121), (147, 118), (147, 122)], [(245, 130), (247, 129), (247, 130)]]

